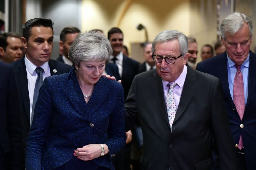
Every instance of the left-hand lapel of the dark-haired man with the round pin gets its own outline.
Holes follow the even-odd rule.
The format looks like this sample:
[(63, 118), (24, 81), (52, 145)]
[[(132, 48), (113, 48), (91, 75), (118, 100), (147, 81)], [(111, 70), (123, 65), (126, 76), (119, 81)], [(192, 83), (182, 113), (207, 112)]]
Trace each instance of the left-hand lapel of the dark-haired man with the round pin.
[(20, 89), (21, 89), (25, 112), (27, 115), (28, 122), (30, 122), (30, 105), (29, 105), (30, 101), (29, 101), (29, 92), (28, 92), (28, 77), (27, 77), (27, 70), (26, 70), (26, 65), (25, 65), (24, 59), (25, 58), (22, 58), (20, 60), (20, 65), (18, 66), (19, 70), (18, 70), (17, 74), (19, 77), (20, 87), (22, 87)]

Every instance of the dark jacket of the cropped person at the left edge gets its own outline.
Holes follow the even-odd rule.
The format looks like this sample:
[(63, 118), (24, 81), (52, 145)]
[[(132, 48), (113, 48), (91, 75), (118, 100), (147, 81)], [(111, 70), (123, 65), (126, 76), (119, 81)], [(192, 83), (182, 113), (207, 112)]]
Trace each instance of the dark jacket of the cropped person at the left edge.
[(0, 61), (0, 169), (24, 169), (20, 100), (11, 65)]

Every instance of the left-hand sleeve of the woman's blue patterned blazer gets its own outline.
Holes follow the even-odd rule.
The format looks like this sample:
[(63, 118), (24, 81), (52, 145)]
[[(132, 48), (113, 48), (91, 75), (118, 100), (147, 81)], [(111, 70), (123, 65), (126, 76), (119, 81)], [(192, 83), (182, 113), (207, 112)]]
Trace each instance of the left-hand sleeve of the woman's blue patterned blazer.
[(41, 169), (42, 151), (52, 116), (52, 94), (52, 84), (46, 77), (38, 94), (33, 122), (28, 134), (26, 146), (27, 170)]

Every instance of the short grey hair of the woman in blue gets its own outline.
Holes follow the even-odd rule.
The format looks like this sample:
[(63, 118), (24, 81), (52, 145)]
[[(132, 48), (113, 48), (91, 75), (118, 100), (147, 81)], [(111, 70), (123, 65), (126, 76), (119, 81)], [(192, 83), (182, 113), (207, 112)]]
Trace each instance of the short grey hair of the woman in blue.
[(109, 40), (99, 32), (85, 32), (76, 36), (68, 56), (75, 65), (81, 61), (109, 61), (112, 48)]

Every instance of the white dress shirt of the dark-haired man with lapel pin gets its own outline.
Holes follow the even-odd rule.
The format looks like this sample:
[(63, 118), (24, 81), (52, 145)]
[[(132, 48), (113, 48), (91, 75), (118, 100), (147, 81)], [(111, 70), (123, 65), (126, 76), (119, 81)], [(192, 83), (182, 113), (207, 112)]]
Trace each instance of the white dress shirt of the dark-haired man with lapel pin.
[[(28, 93), (29, 93), (30, 120), (31, 120), (34, 90), (35, 90), (35, 84), (36, 84), (36, 79), (37, 79), (37, 73), (36, 73), (37, 66), (34, 65), (33, 63), (31, 63), (31, 61), (29, 61), (26, 56), (25, 56), (25, 65), (26, 65), (27, 78), (28, 78)], [(40, 67), (44, 69), (43, 80), (45, 77), (51, 76), (48, 61), (45, 62)]]

